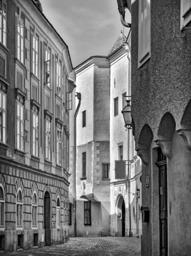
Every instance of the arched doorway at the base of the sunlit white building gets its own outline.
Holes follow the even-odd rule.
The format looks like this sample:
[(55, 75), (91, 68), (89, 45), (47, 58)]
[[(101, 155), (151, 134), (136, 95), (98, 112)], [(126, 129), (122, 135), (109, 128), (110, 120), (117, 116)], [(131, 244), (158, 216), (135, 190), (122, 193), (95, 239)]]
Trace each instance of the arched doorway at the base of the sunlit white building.
[(125, 237), (125, 201), (120, 195), (117, 201), (117, 236)]

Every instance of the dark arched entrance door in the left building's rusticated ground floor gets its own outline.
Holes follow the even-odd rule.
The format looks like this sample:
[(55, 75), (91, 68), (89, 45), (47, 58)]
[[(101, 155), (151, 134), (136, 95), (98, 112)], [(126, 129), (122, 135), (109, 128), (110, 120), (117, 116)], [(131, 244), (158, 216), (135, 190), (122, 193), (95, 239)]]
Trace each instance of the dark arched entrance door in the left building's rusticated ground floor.
[(45, 229), (45, 245), (51, 245), (51, 221), (50, 221), (50, 194), (48, 191), (44, 195), (44, 229)]

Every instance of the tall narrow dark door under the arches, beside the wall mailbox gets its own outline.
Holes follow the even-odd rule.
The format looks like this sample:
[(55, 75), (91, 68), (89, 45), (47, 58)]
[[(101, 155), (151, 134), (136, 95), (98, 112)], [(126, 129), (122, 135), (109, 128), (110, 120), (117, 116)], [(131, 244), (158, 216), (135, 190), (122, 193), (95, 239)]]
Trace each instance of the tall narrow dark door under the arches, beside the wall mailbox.
[(158, 149), (160, 255), (168, 255), (167, 159)]

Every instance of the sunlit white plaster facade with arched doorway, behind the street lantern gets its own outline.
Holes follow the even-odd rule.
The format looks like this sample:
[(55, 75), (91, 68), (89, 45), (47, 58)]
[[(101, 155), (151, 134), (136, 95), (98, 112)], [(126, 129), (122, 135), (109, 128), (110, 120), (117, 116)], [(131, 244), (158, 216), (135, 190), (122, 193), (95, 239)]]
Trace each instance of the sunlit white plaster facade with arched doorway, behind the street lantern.
[[(130, 45), (130, 34), (127, 39)], [(125, 100), (123, 95), (131, 95), (130, 88), (130, 52), (121, 45), (108, 56), (111, 64), (110, 82), (110, 172), (111, 172), (111, 235), (112, 236), (140, 236), (142, 223), (140, 216), (140, 198), (137, 191), (141, 192), (141, 159), (134, 150), (134, 138), (131, 130), (124, 127), (124, 119), (121, 113)], [(114, 114), (114, 99), (118, 97), (118, 114)], [(125, 97), (126, 98), (126, 97)], [(130, 99), (130, 98), (126, 98)], [(120, 149), (123, 148), (122, 159), (130, 160), (129, 184), (126, 179), (115, 179), (115, 160), (120, 160)], [(128, 166), (127, 166), (128, 167)], [(125, 207), (123, 206), (123, 202)]]

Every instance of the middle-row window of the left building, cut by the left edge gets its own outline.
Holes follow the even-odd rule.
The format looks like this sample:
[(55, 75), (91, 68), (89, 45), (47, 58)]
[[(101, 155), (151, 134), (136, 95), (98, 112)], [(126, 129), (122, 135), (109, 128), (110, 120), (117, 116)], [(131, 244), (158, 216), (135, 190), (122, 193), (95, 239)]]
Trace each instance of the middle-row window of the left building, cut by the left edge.
[(0, 142), (6, 143), (6, 95), (0, 91)]

